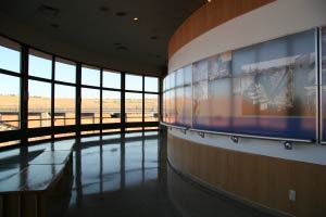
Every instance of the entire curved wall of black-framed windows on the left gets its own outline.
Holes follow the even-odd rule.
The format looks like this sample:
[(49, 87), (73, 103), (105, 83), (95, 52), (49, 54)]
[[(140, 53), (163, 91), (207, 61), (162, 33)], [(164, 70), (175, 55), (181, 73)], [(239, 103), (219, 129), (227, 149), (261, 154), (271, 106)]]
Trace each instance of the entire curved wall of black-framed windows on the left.
[[(153, 129), (146, 123), (159, 120), (159, 90), (156, 77), (76, 63), (0, 36), (0, 146)], [(22, 137), (8, 141), (13, 130)]]

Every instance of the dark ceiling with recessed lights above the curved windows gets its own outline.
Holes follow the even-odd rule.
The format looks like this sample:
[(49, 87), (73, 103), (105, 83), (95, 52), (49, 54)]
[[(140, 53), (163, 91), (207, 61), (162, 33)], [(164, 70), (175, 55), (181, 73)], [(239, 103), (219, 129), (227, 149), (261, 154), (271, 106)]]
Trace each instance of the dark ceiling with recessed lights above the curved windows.
[[(43, 37), (104, 56), (111, 62), (111, 68), (131, 72), (135, 65), (135, 73), (140, 73), (141, 68), (156, 68), (152, 74), (161, 75), (162, 71), (166, 71), (167, 43), (173, 33), (205, 2), (206, 0), (0, 0), (0, 13), (36, 29), (35, 33)], [(134, 21), (134, 17), (139, 20)], [(0, 28), (0, 31), (1, 29), (3, 30)], [(77, 55), (72, 56), (74, 58)]]

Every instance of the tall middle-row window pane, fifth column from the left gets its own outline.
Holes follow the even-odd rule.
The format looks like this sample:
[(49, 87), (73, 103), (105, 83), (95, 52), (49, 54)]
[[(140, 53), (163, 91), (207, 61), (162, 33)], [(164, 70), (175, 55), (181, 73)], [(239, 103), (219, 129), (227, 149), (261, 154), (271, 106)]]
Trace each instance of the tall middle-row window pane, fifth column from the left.
[(103, 90), (103, 124), (120, 123), (121, 92)]

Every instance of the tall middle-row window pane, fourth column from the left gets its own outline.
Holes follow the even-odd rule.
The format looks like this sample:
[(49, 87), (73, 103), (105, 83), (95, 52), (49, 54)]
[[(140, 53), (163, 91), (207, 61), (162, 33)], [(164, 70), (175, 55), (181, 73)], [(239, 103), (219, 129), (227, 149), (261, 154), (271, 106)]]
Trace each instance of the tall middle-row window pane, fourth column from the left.
[(82, 124), (100, 123), (100, 90), (82, 88)]

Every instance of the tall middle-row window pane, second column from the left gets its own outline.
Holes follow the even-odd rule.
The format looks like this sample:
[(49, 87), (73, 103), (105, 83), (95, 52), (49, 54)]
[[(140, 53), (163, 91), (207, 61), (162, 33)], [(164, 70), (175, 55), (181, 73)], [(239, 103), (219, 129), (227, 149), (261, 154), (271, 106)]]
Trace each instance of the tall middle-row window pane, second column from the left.
[(51, 84), (28, 82), (28, 128), (51, 126)]

